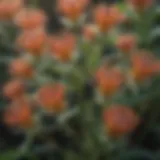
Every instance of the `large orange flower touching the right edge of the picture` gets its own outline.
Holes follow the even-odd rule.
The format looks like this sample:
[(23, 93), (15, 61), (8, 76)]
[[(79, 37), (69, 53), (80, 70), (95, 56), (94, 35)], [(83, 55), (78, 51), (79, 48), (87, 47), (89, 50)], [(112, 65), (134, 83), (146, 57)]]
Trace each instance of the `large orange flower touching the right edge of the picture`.
[(152, 54), (140, 51), (132, 55), (132, 72), (136, 80), (151, 78), (160, 71), (160, 62)]

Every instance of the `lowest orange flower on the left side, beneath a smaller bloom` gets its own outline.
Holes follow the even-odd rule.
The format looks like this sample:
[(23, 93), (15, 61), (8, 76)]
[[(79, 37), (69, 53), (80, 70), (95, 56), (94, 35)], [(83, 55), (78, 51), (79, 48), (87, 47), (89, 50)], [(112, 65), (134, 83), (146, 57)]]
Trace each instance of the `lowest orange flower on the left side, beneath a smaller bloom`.
[(11, 127), (31, 127), (33, 121), (30, 103), (25, 99), (14, 101), (4, 113), (4, 122)]

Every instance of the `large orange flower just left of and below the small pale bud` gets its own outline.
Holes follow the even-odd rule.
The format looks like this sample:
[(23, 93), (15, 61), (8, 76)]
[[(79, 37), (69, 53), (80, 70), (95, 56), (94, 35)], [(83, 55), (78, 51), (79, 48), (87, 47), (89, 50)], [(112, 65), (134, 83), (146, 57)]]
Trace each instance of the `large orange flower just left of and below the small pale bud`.
[(68, 61), (72, 58), (76, 47), (76, 39), (74, 35), (65, 33), (60, 37), (50, 39), (50, 47), (53, 55), (60, 61)]

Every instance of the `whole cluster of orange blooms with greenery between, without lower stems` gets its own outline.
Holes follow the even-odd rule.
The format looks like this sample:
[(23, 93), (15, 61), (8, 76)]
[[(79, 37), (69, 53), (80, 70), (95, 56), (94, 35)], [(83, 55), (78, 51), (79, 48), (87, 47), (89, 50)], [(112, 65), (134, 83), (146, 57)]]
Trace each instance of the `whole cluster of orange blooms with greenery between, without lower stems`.
[[(152, 3), (152, 0), (126, 2), (127, 9), (131, 6), (137, 14), (145, 12)], [(11, 80), (3, 89), (11, 100), (4, 114), (9, 126), (33, 130), (39, 125), (34, 117), (38, 115), (42, 120), (39, 112), (60, 116), (74, 107), (86, 120), (96, 104), (101, 111), (98, 122), (103, 117), (98, 125), (103, 126), (106, 137), (122, 137), (140, 124), (138, 113), (131, 104), (121, 104), (119, 97), (124, 97), (119, 95), (130, 90), (134, 98), (137, 87), (145, 82), (150, 85), (153, 76), (160, 73), (160, 60), (152, 51), (140, 48), (141, 37), (135, 31), (120, 32), (119, 28), (130, 17), (117, 5), (98, 4), (87, 10), (90, 5), (89, 0), (57, 0), (57, 14), (72, 27), (66, 25), (65, 30), (52, 35), (45, 28), (47, 16), (43, 10), (28, 7), (23, 0), (0, 1), (0, 20), (11, 21), (19, 29), (14, 43), (19, 56), (9, 64)], [(86, 22), (88, 17), (90, 22)], [(104, 47), (110, 43), (116, 53), (103, 56)], [(83, 89), (91, 79), (93, 97), (88, 100), (82, 98)], [(34, 91), (30, 92), (32, 87)], [(72, 104), (68, 95), (72, 99), (74, 95), (79, 97)], [(87, 114), (88, 101), (91, 110)]]

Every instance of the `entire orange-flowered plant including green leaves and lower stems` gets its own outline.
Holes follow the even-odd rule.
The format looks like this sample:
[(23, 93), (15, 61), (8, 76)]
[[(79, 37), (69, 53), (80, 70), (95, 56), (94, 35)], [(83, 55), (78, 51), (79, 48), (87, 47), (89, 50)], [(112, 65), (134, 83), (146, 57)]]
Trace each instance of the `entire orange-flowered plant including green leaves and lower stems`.
[[(148, 110), (140, 103), (159, 82), (154, 1), (94, 6), (89, 0), (57, 0), (56, 5), (64, 29), (52, 35), (43, 10), (23, 0), (0, 1), (1, 27), (17, 28), (17, 54), (3, 88), (11, 103), (3, 120), (25, 134), (11, 158), (149, 158), (145, 151), (128, 153), (128, 147)], [(65, 143), (57, 135), (66, 137)]]

